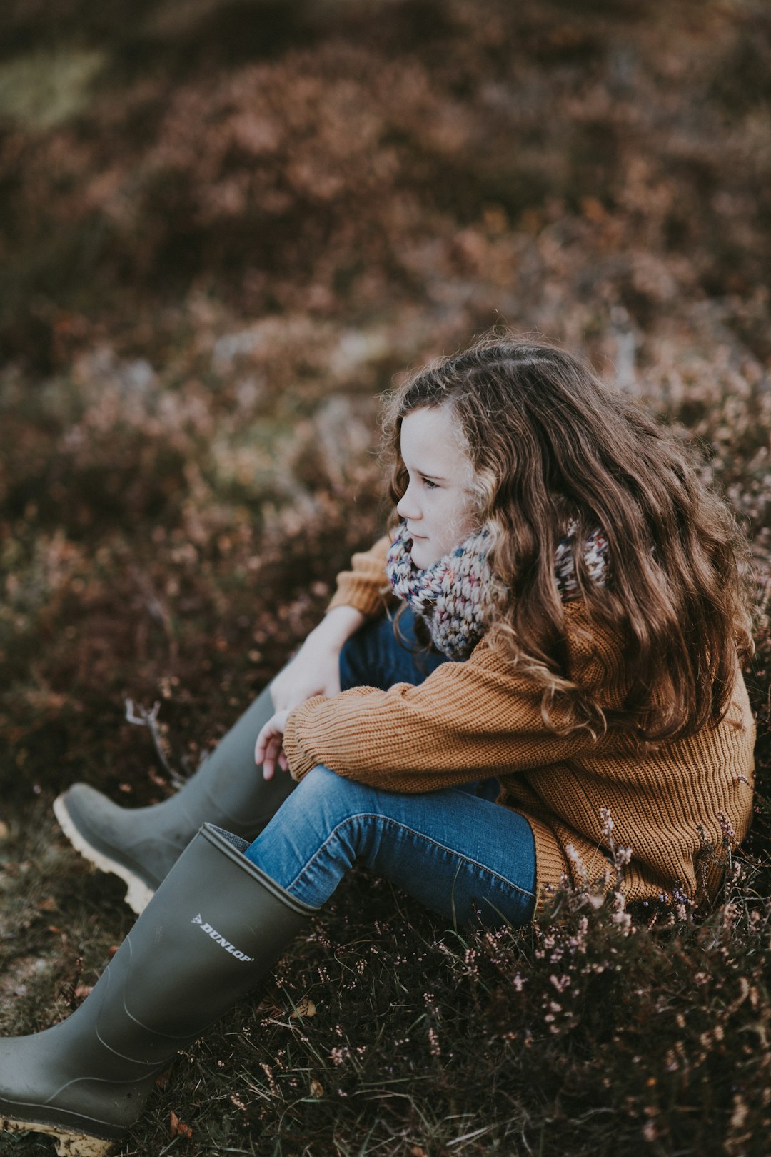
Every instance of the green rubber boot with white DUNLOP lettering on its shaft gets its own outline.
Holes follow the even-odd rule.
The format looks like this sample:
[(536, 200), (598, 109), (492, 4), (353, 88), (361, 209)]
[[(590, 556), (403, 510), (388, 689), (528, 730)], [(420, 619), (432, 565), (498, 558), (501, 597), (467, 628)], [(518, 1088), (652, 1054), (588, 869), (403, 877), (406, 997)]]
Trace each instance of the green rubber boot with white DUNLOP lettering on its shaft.
[(244, 996), (314, 911), (203, 825), (71, 1017), (0, 1040), (0, 1127), (99, 1157), (138, 1120), (155, 1076)]

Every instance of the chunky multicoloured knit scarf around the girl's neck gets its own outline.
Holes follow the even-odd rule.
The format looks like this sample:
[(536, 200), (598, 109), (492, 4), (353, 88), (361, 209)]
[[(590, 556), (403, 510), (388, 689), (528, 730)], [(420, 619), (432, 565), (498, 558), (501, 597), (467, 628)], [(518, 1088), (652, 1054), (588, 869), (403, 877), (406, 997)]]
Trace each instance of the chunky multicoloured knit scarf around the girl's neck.
[[(568, 524), (554, 557), (557, 590), (564, 603), (579, 596), (572, 550), (577, 526), (574, 521)], [(477, 531), (425, 570), (414, 565), (412, 545), (407, 524), (401, 523), (386, 560), (394, 595), (425, 619), (443, 655), (467, 658), (484, 634), (491, 611), (490, 532)], [(607, 554), (607, 539), (596, 528), (584, 544), (584, 558), (591, 578), (600, 587), (605, 585)]]

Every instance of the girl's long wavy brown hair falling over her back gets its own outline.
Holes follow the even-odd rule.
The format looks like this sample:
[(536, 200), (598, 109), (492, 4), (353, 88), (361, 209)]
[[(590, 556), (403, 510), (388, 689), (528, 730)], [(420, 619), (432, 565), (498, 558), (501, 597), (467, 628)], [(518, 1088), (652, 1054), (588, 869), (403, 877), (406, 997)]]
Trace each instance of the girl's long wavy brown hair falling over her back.
[[(640, 744), (719, 722), (751, 654), (748, 551), (684, 437), (606, 386), (579, 358), (541, 341), (483, 338), (413, 375), (386, 401), (384, 457), (394, 504), (407, 488), (401, 423), (450, 406), (491, 531), (495, 614), (487, 638), (542, 686), (559, 730), (613, 723)], [(617, 633), (628, 693), (603, 712), (570, 679), (555, 550), (576, 518), (576, 576), (592, 621)], [(605, 585), (581, 544), (600, 526)]]

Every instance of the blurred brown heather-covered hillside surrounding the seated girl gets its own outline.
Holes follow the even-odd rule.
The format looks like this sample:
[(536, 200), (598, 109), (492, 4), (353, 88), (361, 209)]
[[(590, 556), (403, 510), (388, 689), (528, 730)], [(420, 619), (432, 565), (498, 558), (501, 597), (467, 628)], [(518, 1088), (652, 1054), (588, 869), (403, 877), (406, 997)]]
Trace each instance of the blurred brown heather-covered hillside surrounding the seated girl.
[[(357, 924), (371, 887), (353, 880), (336, 955), (327, 927), (284, 978), (299, 998), (307, 959), (334, 970), (373, 937), (376, 986), (348, 992), (340, 965), (348, 1052), (320, 998), (320, 1037), (298, 1044), (289, 1000), (301, 1060), (255, 1085), (265, 1057), (233, 1022), (126, 1151), (768, 1152), (768, 3), (5, 0), (0, 206), (2, 1029), (61, 1016), (127, 927), (120, 890), (54, 834), (53, 795), (86, 779), (147, 803), (195, 768), (380, 531), (378, 395), (502, 324), (584, 351), (694, 432), (754, 541), (761, 875), (748, 861), (705, 938), (681, 913), (632, 951), (593, 915), (594, 963), (627, 965), (591, 983), (627, 987), (587, 980), (564, 1033), (541, 949), (480, 948), (475, 975), (409, 905), (390, 926), (390, 893), (379, 939)], [(163, 760), (127, 698), (161, 702)], [(400, 987), (405, 953), (418, 979)], [(529, 1003), (501, 996), (520, 973)], [(415, 1052), (409, 1025), (450, 1020), (461, 989), (455, 1051)], [(205, 1085), (232, 1117), (201, 1104), (213, 1056), (250, 1074), (233, 1103)]]

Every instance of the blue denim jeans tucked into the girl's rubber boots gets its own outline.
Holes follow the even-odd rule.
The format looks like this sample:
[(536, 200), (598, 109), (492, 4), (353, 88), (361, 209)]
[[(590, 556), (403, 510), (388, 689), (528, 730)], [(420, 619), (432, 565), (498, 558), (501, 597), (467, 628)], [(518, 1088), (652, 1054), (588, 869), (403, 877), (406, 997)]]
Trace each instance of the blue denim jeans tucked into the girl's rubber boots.
[[(366, 624), (346, 644), (343, 690), (421, 683), (445, 662), (415, 654), (387, 619)], [(535, 843), (527, 820), (492, 802), (497, 781), (438, 791), (385, 791), (314, 767), (247, 848), (246, 856), (291, 896), (320, 907), (355, 861), (402, 887), (453, 923), (475, 912), (488, 927), (533, 915)]]

